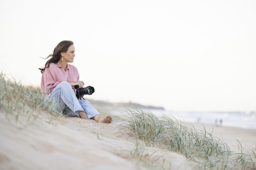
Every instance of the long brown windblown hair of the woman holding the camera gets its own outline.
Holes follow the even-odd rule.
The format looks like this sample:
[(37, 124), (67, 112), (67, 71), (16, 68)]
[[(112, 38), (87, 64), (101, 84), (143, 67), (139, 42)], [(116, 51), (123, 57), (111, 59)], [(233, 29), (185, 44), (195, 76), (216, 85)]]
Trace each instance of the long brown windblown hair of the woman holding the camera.
[[(73, 41), (71, 41), (71, 40), (69, 40), (69, 41), (66, 41), (66, 40), (61, 41), (61, 42), (54, 48), (53, 54), (50, 54), (48, 57), (43, 58), (43, 59), (47, 59), (47, 58), (49, 58), (49, 57), (52, 57), (52, 58), (50, 58), (48, 61), (46, 61), (44, 68), (42, 68), (42, 69), (38, 68), (38, 69), (41, 71), (41, 73), (43, 73), (46, 68), (49, 68), (51, 62), (53, 62), (53, 63), (56, 64), (56, 63), (60, 60), (60, 58), (61, 58), (61, 54), (60, 54), (60, 53), (61, 53), (61, 52), (66, 53), (67, 50), (68, 50), (68, 48), (69, 48), (71, 45), (74, 45)], [(41, 58), (42, 58), (42, 57), (41, 57)]]

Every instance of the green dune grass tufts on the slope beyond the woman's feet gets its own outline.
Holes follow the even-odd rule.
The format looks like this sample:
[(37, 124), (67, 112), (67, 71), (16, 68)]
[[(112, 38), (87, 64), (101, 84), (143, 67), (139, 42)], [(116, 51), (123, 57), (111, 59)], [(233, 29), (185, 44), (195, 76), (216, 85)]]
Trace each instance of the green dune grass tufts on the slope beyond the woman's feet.
[(188, 160), (200, 163), (195, 169), (255, 169), (255, 152), (230, 151), (223, 139), (205, 129), (195, 129), (192, 124), (182, 123), (170, 115), (156, 117), (144, 108), (125, 108), (124, 128), (130, 129), (130, 136), (143, 140), (147, 146), (157, 146), (180, 153)]

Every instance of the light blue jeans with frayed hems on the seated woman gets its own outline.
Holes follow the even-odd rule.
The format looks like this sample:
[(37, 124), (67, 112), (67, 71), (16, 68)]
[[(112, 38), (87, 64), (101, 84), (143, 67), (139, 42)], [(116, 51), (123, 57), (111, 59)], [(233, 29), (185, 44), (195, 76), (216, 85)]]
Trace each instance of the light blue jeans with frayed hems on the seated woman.
[(100, 114), (88, 100), (78, 100), (68, 82), (59, 83), (44, 100), (48, 98), (55, 101), (55, 107), (61, 108), (60, 111), (68, 116), (80, 117), (78, 111), (84, 111), (88, 118), (92, 119)]

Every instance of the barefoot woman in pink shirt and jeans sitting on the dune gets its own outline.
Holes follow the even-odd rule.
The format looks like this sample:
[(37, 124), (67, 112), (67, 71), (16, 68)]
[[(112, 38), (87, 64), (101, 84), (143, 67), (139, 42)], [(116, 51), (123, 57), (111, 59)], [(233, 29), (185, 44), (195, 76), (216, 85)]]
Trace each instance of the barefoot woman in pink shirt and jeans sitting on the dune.
[(68, 64), (74, 61), (75, 47), (72, 41), (61, 41), (45, 59), (49, 59), (44, 68), (39, 70), (42, 73), (41, 92), (48, 95), (56, 102), (56, 108), (69, 116), (78, 116), (82, 119), (93, 119), (95, 121), (110, 123), (112, 117), (102, 116), (91, 105), (88, 100), (78, 100), (76, 97), (75, 85), (82, 88), (83, 81), (79, 80), (78, 70), (75, 66)]

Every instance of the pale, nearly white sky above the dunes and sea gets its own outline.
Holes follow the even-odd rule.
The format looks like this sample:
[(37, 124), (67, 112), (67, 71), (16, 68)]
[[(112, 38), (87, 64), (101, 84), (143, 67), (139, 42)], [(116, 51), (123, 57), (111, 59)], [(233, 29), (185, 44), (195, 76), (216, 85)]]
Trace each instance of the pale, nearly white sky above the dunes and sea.
[(3, 1), (0, 68), (40, 86), (63, 40), (87, 99), (256, 110), (256, 1)]

